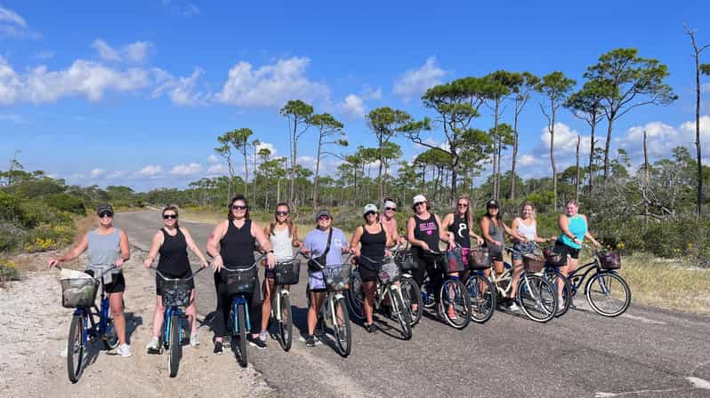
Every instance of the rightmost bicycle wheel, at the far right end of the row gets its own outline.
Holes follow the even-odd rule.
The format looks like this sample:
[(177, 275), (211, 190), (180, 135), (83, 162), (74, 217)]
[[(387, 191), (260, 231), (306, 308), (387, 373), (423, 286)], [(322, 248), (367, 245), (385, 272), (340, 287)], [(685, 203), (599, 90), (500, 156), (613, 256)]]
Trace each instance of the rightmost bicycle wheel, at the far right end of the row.
[(585, 286), (586, 300), (592, 309), (604, 316), (624, 314), (631, 304), (631, 289), (620, 275), (600, 272), (593, 275)]

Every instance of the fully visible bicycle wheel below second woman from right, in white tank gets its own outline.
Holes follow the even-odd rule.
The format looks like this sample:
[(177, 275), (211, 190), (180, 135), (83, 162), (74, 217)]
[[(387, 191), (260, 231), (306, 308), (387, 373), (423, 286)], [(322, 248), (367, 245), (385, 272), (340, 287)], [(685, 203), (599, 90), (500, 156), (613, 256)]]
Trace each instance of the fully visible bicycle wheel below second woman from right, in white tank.
[(557, 291), (552, 283), (535, 274), (523, 274), (517, 299), (522, 312), (535, 322), (547, 322), (557, 311)]

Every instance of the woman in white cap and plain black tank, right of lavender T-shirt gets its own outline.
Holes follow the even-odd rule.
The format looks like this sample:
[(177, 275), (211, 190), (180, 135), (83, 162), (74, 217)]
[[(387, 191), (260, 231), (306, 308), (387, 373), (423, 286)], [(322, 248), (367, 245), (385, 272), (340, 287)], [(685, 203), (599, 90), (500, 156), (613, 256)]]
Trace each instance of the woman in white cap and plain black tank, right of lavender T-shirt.
[(372, 333), (375, 325), (372, 323), (372, 310), (375, 306), (375, 283), (377, 273), (382, 265), (384, 249), (391, 246), (390, 233), (379, 222), (377, 206), (369, 203), (362, 213), (365, 224), (357, 227), (352, 234), (351, 253), (358, 259), (362, 291), (365, 296), (363, 312), (365, 313), (365, 330)]

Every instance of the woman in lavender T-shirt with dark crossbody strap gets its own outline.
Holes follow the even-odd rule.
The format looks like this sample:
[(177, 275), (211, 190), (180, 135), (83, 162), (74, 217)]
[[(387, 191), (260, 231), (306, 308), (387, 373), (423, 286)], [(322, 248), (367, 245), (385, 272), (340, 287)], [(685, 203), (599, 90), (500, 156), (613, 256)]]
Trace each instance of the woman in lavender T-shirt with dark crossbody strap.
[[(343, 253), (348, 252), (348, 241), (345, 234), (339, 228), (332, 227), (333, 217), (327, 209), (322, 209), (316, 214), (316, 222), (318, 223), (316, 228), (309, 232), (303, 241), (303, 253), (310, 255), (312, 259), (319, 259), (320, 265), (324, 267), (342, 264)], [(309, 268), (308, 286), (309, 306), (306, 346), (316, 346), (316, 338), (313, 336), (313, 332), (316, 329), (319, 308), (323, 305), (327, 292), (323, 273)]]

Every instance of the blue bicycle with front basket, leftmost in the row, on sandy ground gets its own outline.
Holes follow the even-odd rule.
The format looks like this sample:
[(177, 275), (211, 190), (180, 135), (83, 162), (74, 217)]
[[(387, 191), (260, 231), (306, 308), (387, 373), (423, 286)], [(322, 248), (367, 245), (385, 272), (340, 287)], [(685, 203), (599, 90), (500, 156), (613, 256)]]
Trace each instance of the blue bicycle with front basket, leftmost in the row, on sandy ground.
[[(57, 266), (61, 270), (61, 267)], [(69, 381), (76, 383), (84, 371), (84, 355), (87, 339), (93, 343), (101, 338), (103, 346), (112, 350), (118, 346), (118, 336), (109, 311), (109, 298), (104, 291), (104, 275), (116, 269), (111, 265), (104, 269), (98, 280), (95, 276), (75, 271), (80, 276), (61, 278), (61, 306), (75, 308), (69, 324), (67, 338), (67, 373)], [(101, 302), (96, 306), (96, 293), (101, 284)], [(98, 320), (96, 319), (98, 318)]]

